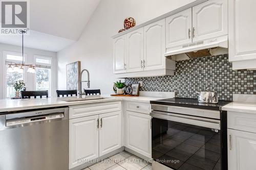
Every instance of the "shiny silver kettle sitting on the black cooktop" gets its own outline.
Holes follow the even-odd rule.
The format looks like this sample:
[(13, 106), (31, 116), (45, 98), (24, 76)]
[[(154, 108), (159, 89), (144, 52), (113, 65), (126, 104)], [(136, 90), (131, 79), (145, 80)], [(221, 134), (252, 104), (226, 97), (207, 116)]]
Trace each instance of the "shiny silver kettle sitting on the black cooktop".
[[(204, 90), (204, 85), (211, 84), (212, 90), (207, 87)], [(201, 91), (196, 91), (198, 94), (198, 103), (218, 103), (218, 95), (215, 91), (215, 84), (212, 82), (204, 81), (201, 84)]]

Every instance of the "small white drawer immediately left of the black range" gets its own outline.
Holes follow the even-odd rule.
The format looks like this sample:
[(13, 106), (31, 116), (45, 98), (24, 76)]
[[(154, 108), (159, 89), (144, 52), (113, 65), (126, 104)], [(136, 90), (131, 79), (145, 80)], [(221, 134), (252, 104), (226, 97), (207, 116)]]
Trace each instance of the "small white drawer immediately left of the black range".
[(126, 110), (150, 114), (151, 105), (149, 103), (126, 102)]

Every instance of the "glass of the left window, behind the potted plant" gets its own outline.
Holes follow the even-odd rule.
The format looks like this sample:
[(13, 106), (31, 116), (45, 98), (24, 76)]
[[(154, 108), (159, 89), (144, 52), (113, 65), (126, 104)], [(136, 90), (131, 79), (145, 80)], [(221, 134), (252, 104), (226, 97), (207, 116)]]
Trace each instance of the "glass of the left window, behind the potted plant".
[(15, 89), (13, 84), (15, 81), (24, 80), (24, 71), (10, 70), (8, 64), (10, 63), (22, 63), (22, 54), (13, 52), (4, 52), (5, 57), (5, 92), (6, 97), (11, 98), (15, 96)]

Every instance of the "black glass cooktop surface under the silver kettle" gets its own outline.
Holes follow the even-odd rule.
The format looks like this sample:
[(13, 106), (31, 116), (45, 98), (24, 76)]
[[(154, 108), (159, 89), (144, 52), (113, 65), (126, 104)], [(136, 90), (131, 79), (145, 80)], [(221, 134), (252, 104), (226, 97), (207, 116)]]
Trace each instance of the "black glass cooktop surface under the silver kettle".
[(221, 110), (222, 106), (230, 102), (231, 101), (219, 101), (217, 104), (205, 104), (205, 103), (198, 103), (197, 99), (186, 99), (186, 98), (171, 98), (171, 99), (150, 101), (151, 104), (191, 107), (191, 108), (210, 109), (210, 110)]

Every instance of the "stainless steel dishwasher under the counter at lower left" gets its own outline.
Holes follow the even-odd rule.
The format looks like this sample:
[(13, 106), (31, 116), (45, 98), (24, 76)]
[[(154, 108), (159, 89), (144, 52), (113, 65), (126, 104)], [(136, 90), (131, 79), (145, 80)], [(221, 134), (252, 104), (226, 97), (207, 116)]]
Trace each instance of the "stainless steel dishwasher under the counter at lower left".
[(0, 169), (68, 170), (69, 109), (0, 114)]

